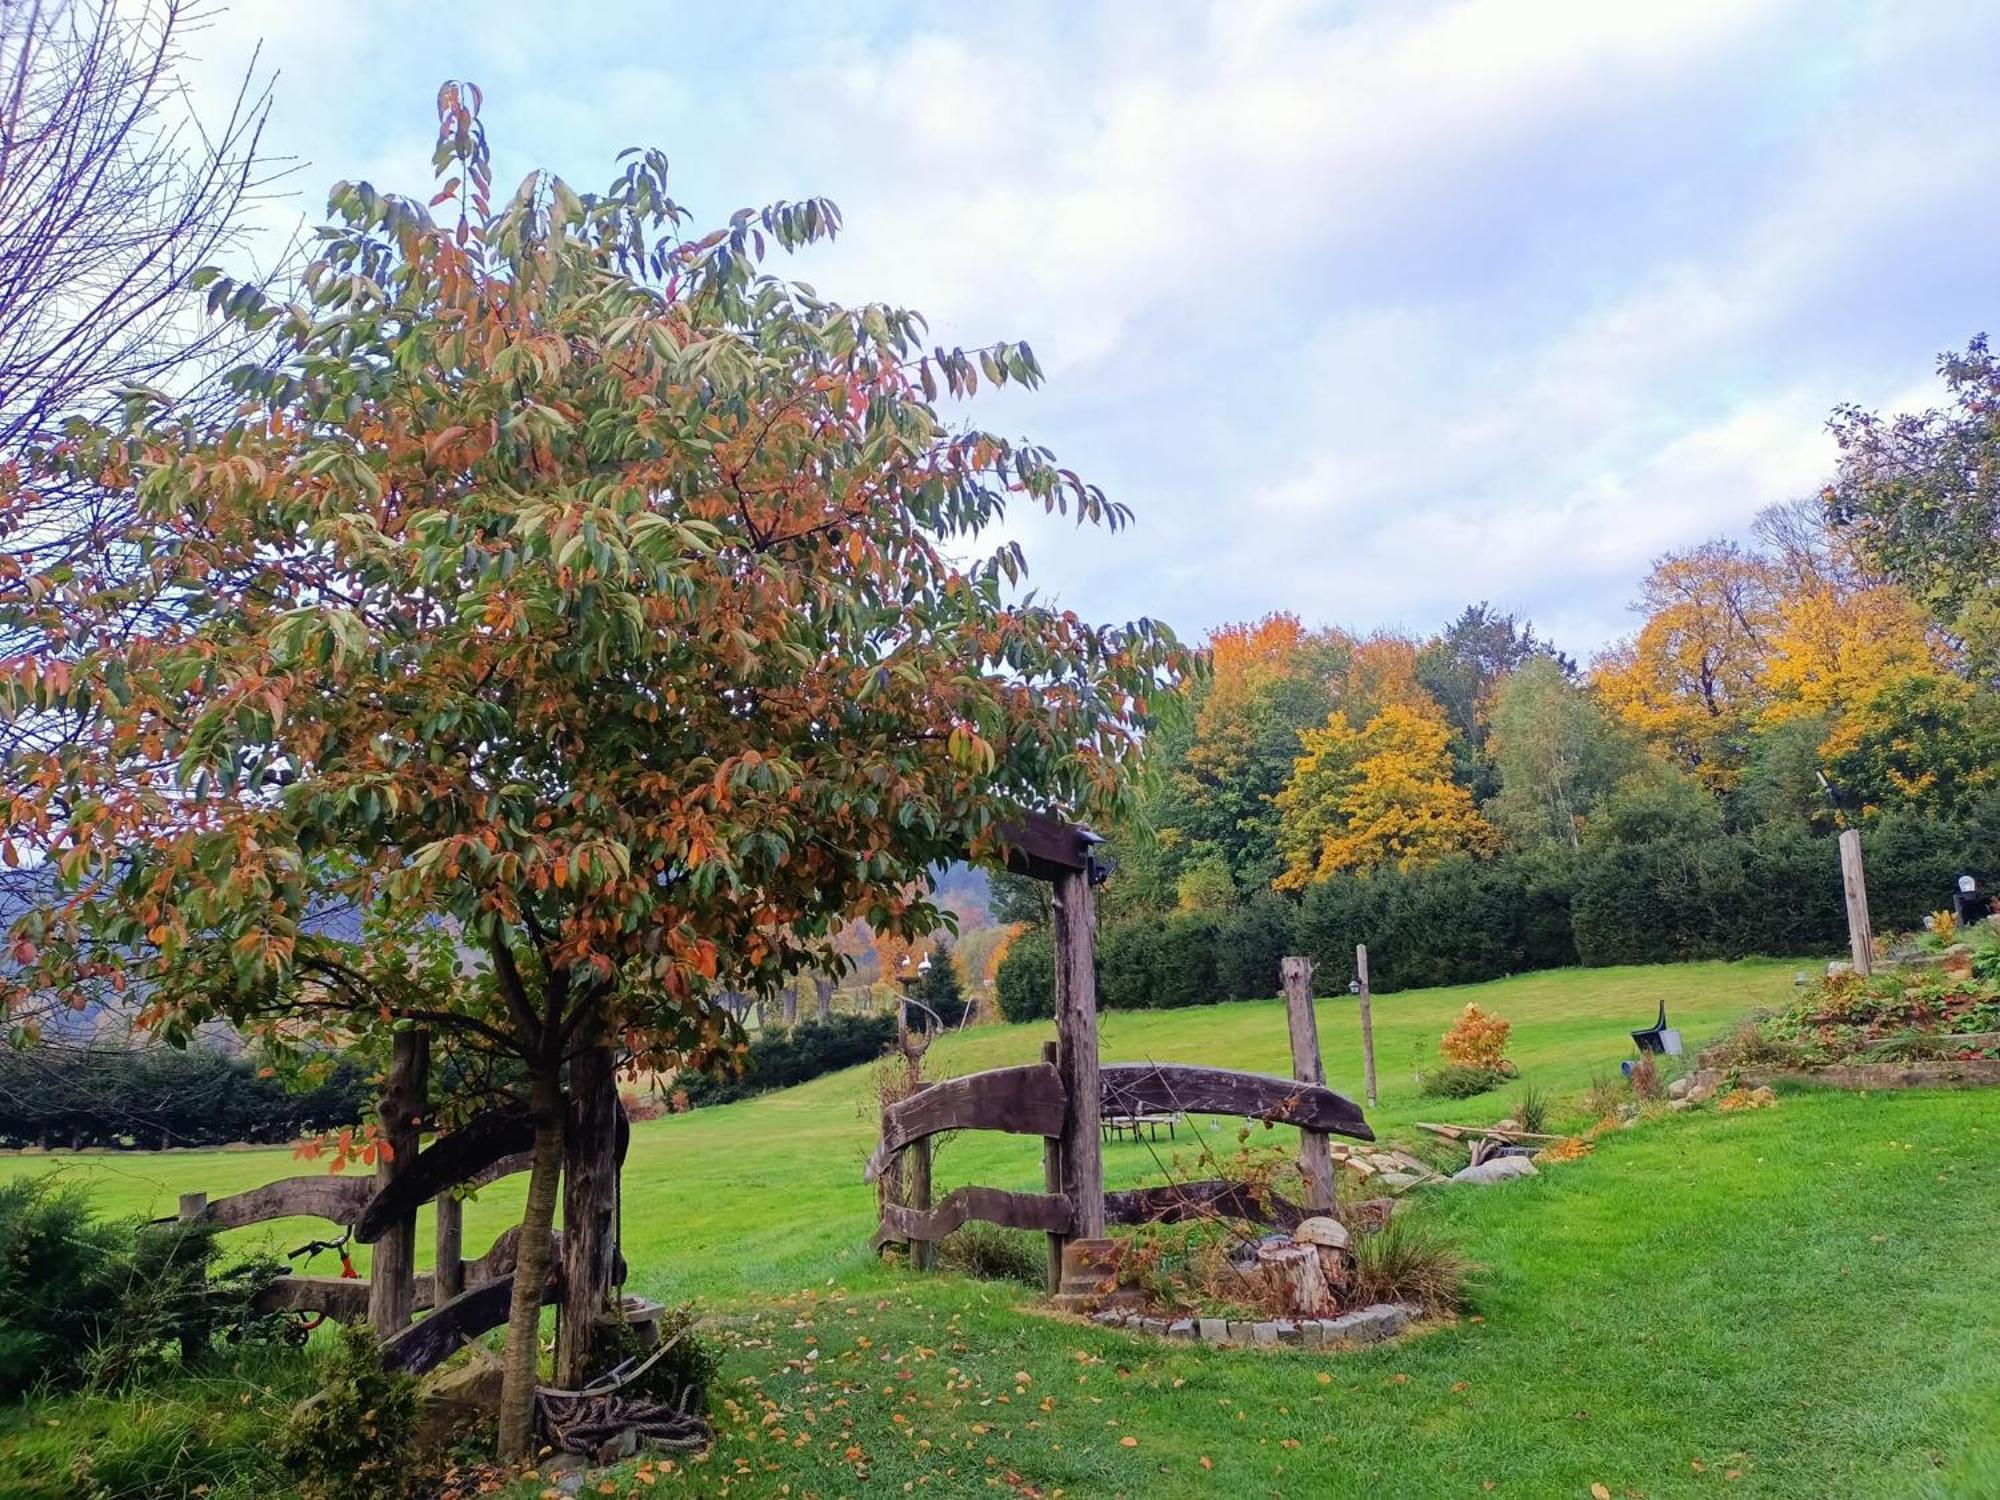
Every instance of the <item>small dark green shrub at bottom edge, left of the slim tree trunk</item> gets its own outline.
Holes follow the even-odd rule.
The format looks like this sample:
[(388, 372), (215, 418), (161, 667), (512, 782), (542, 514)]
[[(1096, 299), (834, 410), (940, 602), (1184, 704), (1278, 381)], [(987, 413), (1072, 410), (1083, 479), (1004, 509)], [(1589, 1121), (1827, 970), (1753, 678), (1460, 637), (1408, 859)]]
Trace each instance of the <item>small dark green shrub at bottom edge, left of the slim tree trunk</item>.
[(278, 1434), (278, 1460), (304, 1500), (402, 1500), (424, 1492), (414, 1452), (416, 1378), (382, 1368), (364, 1324), (334, 1336), (318, 1396), (300, 1402)]

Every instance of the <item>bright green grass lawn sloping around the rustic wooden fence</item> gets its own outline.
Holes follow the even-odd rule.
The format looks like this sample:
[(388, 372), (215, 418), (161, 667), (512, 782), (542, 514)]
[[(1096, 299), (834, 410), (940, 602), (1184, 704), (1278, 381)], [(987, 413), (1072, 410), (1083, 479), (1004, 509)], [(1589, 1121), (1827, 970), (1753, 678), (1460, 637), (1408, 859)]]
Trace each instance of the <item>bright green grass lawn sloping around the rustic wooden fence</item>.
[[(1660, 998), (1696, 1042), (1780, 1002), (1794, 968), (1570, 970), (1384, 996), (1370, 1118), (1396, 1136), (1506, 1110), (1512, 1092), (1416, 1096), (1414, 1068), (1468, 998), (1514, 1022), (1526, 1082), (1576, 1094), (1616, 1070)], [(1046, 1030), (948, 1038), (932, 1072), (1028, 1060)], [(1322, 1002), (1320, 1034), (1332, 1084), (1358, 1094), (1348, 1000)], [(1274, 1002), (1114, 1014), (1104, 1056), (1284, 1072), (1284, 1036)], [(1612, 1132), (1528, 1182), (1426, 1190), (1416, 1212), (1484, 1266), (1472, 1314), (1336, 1356), (1112, 1336), (1042, 1316), (1020, 1288), (878, 1266), (860, 1182), (874, 1130), (866, 1070), (638, 1126), (634, 1290), (700, 1296), (730, 1352), (714, 1452), (614, 1492), (2000, 1496), (1990, 1094), (1794, 1092), (1774, 1110)], [(1232, 1130), (1204, 1140), (1234, 1148)], [(1106, 1156), (1114, 1184), (1154, 1168), (1146, 1146)], [(168, 1212), (182, 1190), (300, 1170), (286, 1152), (10, 1168), (72, 1172), (112, 1212)], [(938, 1174), (940, 1188), (1036, 1186), (1040, 1164), (1032, 1142), (958, 1136)], [(488, 1188), (472, 1206), (468, 1250), (518, 1210), (516, 1192)], [(280, 1396), (268, 1400), (276, 1420)], [(82, 1430), (36, 1426), (50, 1412)], [(20, 1414), (12, 1436), (0, 1428), (0, 1474), (10, 1446), (28, 1470), (32, 1452), (78, 1440), (90, 1428), (74, 1410)]]

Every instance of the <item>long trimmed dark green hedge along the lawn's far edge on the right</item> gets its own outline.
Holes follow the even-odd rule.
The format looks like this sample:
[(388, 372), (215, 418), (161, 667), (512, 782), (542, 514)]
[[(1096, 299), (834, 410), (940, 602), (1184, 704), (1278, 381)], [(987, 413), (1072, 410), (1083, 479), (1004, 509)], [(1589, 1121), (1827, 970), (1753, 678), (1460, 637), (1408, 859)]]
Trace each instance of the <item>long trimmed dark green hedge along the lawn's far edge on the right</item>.
[[(1984, 822), (1882, 818), (1862, 836), (1878, 932), (1948, 906), (1960, 874), (2000, 874), (2000, 830)], [(1274, 994), (1278, 960), (1308, 954), (1322, 994), (1354, 976), (1368, 944), (1372, 988), (1474, 984), (1568, 964), (1804, 954), (1846, 946), (1834, 840), (1764, 832), (1698, 844), (1448, 860), (1258, 896), (1226, 914), (1144, 916), (1098, 934), (1098, 1004), (1192, 1006)], [(998, 974), (1000, 1012), (1054, 1012), (1046, 932), (1024, 934)]]

